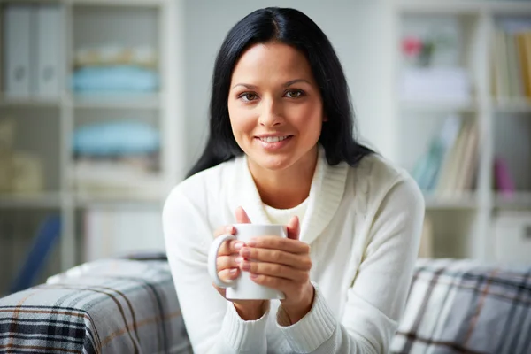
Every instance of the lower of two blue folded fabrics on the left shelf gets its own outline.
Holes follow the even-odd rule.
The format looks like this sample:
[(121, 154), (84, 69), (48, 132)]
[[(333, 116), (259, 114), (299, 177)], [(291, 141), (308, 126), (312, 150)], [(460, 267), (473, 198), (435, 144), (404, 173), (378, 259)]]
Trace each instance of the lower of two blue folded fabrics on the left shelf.
[(147, 123), (112, 121), (79, 127), (73, 134), (73, 150), (80, 155), (116, 156), (157, 152), (158, 131)]

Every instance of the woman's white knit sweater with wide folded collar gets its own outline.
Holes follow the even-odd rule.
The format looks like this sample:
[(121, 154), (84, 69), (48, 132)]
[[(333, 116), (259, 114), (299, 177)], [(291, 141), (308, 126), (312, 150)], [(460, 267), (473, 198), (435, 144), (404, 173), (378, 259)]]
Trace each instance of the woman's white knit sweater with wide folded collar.
[(419, 250), (424, 200), (412, 178), (379, 156), (357, 167), (327, 164), (324, 151), (301, 225), (311, 245), (312, 310), (284, 327), (280, 302), (244, 321), (207, 271), (213, 231), (235, 223), (239, 205), (268, 223), (246, 158), (181, 182), (163, 212), (165, 244), (196, 353), (386, 353)]

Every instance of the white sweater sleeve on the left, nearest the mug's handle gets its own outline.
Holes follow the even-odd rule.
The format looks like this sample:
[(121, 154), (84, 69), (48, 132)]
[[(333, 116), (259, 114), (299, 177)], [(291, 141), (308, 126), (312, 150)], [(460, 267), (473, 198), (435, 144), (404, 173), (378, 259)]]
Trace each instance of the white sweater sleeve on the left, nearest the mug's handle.
[(212, 286), (207, 271), (212, 230), (201, 205), (177, 187), (166, 200), (165, 248), (182, 317), (195, 353), (266, 353), (266, 321), (244, 321)]

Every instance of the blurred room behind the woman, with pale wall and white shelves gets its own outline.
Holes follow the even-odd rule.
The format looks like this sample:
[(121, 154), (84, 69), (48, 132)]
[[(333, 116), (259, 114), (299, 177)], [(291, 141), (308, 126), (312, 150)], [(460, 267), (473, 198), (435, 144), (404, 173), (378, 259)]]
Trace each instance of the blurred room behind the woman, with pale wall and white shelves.
[(294, 7), (335, 46), (362, 142), (425, 193), (420, 257), (531, 262), (531, 3), (0, 0), (0, 295), (164, 250), (214, 58)]

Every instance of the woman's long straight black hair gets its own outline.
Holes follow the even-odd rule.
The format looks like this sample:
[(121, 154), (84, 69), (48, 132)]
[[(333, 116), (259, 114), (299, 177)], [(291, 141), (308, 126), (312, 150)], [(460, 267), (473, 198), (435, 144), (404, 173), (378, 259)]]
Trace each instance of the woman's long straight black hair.
[(212, 76), (210, 136), (203, 155), (188, 176), (243, 154), (235, 141), (228, 116), (232, 73), (245, 50), (256, 43), (272, 41), (300, 50), (310, 63), (327, 117), (319, 136), (327, 163), (337, 165), (345, 161), (357, 165), (361, 158), (373, 152), (354, 139), (349, 87), (327, 35), (303, 12), (268, 7), (251, 12), (236, 23), (219, 49)]

